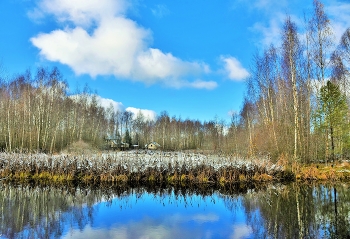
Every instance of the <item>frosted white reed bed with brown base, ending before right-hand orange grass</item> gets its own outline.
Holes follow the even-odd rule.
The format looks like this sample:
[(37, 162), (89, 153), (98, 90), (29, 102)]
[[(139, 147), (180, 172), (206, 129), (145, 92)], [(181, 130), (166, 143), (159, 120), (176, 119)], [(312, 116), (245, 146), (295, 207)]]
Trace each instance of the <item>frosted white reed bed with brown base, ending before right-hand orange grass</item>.
[[(147, 156), (147, 157), (146, 157)], [(289, 170), (263, 160), (237, 160), (196, 154), (136, 152), (125, 155), (0, 154), (0, 178), (53, 184), (227, 185), (291, 181)]]

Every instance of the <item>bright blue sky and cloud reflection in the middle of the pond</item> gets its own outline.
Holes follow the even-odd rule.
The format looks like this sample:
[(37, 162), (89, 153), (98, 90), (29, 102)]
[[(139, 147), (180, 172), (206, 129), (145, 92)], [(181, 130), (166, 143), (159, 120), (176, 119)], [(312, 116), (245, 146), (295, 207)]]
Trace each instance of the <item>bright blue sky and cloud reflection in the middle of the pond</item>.
[(251, 238), (240, 200), (237, 205), (228, 210), (216, 194), (131, 194), (95, 205), (92, 225), (73, 226), (64, 238)]

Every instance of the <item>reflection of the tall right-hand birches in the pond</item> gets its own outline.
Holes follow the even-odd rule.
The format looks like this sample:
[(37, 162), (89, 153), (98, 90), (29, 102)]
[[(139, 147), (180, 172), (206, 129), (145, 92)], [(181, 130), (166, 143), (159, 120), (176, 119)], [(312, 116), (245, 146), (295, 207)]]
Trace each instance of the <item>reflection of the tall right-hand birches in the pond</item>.
[(243, 198), (258, 238), (350, 237), (347, 185), (271, 185)]

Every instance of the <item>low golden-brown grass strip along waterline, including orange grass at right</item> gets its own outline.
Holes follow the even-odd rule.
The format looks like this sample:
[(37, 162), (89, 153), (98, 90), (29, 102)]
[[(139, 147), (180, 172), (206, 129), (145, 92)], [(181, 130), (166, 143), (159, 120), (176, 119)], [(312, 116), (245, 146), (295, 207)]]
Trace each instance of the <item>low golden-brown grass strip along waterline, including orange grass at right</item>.
[[(220, 175), (220, 174), (219, 174)], [(117, 184), (168, 184), (168, 185), (229, 185), (235, 183), (263, 183), (263, 182), (292, 182), (292, 181), (350, 181), (350, 169), (341, 165), (303, 165), (297, 171), (285, 170), (276, 175), (266, 173), (254, 173), (248, 175), (241, 173), (237, 176), (230, 177), (228, 174), (219, 176), (218, 174), (197, 174), (191, 172), (188, 174), (161, 174), (159, 172), (130, 173), (130, 174), (53, 174), (52, 172), (41, 171), (40, 173), (31, 172), (11, 172), (0, 174), (1, 181), (11, 182), (38, 182), (38, 183), (117, 183)]]

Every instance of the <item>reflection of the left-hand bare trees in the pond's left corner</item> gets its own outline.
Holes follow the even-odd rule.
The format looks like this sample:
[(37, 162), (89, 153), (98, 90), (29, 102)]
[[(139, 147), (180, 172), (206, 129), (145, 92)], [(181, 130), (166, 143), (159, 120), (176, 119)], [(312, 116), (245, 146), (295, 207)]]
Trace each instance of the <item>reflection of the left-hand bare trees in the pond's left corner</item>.
[(69, 187), (1, 185), (0, 233), (6, 238), (49, 238), (62, 235), (67, 223), (83, 228), (92, 215), (95, 195)]

